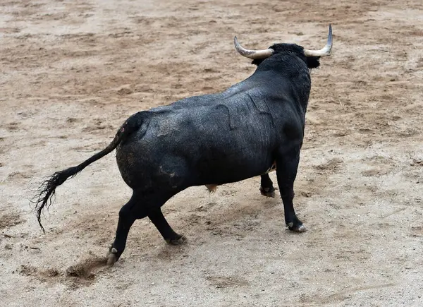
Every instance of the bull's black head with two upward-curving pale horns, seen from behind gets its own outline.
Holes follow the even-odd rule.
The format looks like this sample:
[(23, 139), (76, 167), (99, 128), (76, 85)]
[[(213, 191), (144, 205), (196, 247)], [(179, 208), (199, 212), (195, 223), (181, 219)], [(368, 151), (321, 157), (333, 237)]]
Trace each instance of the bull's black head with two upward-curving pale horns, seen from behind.
[[(236, 36), (233, 39), (233, 42), (235, 44), (235, 49), (242, 55), (249, 59), (253, 59), (253, 64), (260, 64), (264, 59), (269, 58), (270, 56), (277, 54), (278, 52), (283, 52), (284, 50), (288, 51), (290, 49), (295, 51), (301, 51), (304, 56), (306, 56), (307, 62), (313, 62), (315, 60), (318, 60), (321, 56), (329, 56), (331, 54), (332, 49), (332, 26), (329, 25), (329, 35), (328, 35), (328, 42), (326, 43), (326, 46), (323, 47), (320, 50), (309, 50), (305, 49), (301, 46), (298, 46), (297, 44), (274, 44), (268, 49), (263, 50), (249, 50), (245, 49), (240, 45), (238, 42), (238, 39)], [(309, 61), (312, 60), (312, 61)], [(319, 66), (317, 62), (317, 66)], [(310, 67), (310, 66), (309, 66)], [(310, 67), (312, 68), (312, 67)]]

